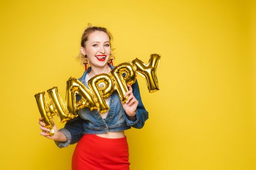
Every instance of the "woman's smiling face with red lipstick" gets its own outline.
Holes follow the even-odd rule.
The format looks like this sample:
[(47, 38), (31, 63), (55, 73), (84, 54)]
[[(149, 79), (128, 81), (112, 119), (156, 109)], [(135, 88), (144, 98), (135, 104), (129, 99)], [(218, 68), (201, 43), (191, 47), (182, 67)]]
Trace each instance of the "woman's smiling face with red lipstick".
[(107, 66), (107, 61), (111, 54), (109, 36), (102, 31), (95, 31), (88, 36), (85, 48), (81, 52), (86, 54), (92, 67)]

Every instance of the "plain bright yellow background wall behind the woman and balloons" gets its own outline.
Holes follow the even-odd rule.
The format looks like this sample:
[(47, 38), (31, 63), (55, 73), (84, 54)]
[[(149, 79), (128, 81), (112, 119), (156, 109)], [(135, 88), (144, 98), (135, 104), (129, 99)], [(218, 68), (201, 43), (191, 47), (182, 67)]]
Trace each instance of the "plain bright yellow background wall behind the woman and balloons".
[(162, 55), (158, 92), (138, 76), (149, 119), (126, 131), (131, 170), (256, 169), (255, 2), (5, 0), (0, 21), (1, 170), (71, 169), (75, 145), (39, 135), (34, 94), (64, 98), (82, 75), (88, 22), (114, 35), (115, 64)]

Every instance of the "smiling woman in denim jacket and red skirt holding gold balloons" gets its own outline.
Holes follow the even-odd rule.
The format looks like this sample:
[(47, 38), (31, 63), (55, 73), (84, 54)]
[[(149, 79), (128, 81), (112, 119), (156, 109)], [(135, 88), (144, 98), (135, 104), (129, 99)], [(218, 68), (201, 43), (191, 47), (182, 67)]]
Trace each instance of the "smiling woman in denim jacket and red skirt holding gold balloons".
[[(113, 68), (111, 34), (106, 28), (88, 26), (81, 39), (81, 62), (90, 64), (79, 80), (88, 88), (88, 80), (100, 73), (109, 73)], [(66, 122), (64, 128), (54, 126), (54, 136), (49, 136), (44, 123), (39, 119), (41, 136), (55, 141), (59, 148), (77, 143), (72, 157), (72, 170), (129, 170), (129, 151), (124, 130), (142, 128), (148, 112), (139, 94), (138, 82), (127, 85), (129, 95), (122, 103), (115, 90), (106, 99), (110, 109), (99, 114), (89, 108), (78, 110), (79, 116)], [(80, 99), (77, 96), (77, 101)]]

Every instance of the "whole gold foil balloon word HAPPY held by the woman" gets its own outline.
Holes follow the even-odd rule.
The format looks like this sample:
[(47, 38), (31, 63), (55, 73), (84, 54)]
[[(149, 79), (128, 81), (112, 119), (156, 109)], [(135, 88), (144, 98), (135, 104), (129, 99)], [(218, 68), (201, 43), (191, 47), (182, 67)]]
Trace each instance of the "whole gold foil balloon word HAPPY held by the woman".
[[(45, 127), (50, 129), (47, 133), (50, 136), (54, 135), (52, 119), (54, 115), (58, 116), (59, 121), (65, 122), (77, 117), (77, 110), (84, 107), (90, 108), (91, 111), (98, 109), (101, 114), (107, 112), (109, 106), (105, 98), (109, 97), (115, 89), (118, 91), (121, 102), (125, 103), (129, 97), (124, 98), (128, 91), (127, 84), (135, 83), (137, 72), (146, 78), (149, 92), (159, 90), (157, 70), (160, 57), (158, 54), (151, 54), (147, 65), (138, 58), (132, 62), (119, 64), (108, 74), (102, 73), (92, 77), (88, 81), (89, 89), (78, 79), (70, 77), (67, 81), (66, 103), (62, 100), (58, 87), (47, 90), (50, 102), (47, 102), (45, 92), (35, 94), (42, 121)], [(77, 93), (81, 97), (79, 102), (76, 101)]]

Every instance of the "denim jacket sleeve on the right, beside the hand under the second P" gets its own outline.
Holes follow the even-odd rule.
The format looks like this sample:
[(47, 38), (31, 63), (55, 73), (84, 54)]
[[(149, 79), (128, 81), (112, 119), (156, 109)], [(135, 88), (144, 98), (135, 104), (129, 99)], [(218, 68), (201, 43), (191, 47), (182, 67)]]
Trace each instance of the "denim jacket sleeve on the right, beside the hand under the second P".
[(138, 100), (138, 106), (136, 109), (136, 120), (132, 121), (128, 119), (126, 113), (124, 113), (124, 119), (127, 122), (128, 126), (140, 129), (144, 126), (145, 121), (148, 119), (148, 112), (146, 111), (140, 97), (138, 81), (136, 80), (135, 84), (132, 85), (133, 95)]

